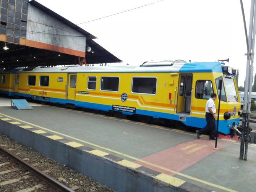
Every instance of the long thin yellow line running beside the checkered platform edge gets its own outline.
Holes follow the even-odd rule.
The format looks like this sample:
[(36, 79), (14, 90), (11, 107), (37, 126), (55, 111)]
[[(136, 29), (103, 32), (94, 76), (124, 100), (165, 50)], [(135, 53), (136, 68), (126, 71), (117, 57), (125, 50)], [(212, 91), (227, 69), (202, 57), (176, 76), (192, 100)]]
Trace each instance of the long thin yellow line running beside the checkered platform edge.
[[(145, 163), (145, 164), (150, 165), (150, 166), (153, 166), (153, 167), (155, 167), (155, 168), (159, 168), (159, 169), (168, 171), (168, 172), (170, 172), (170, 173), (174, 173), (174, 174), (177, 174), (177, 175), (179, 175), (179, 176), (182, 176), (182, 177), (185, 177), (185, 178), (188, 178), (188, 179), (192, 179), (192, 180), (194, 180), (194, 181), (201, 182), (201, 183), (203, 183), (203, 184), (206, 184), (206, 185), (209, 185), (209, 186), (212, 186), (212, 187), (216, 187), (216, 188), (219, 188), (219, 189), (222, 189), (222, 190), (226, 190), (226, 191), (229, 191), (229, 192), (237, 192), (237, 191), (235, 191), (235, 190), (228, 189), (227, 187), (219, 186), (219, 185), (217, 185), (217, 184), (214, 184), (214, 183), (211, 183), (211, 182), (207, 182), (207, 181), (204, 181), (204, 180), (202, 180), (202, 179), (198, 179), (198, 178), (196, 178), (196, 177), (192, 177), (192, 176), (189, 176), (189, 175), (186, 175), (186, 174), (177, 172), (177, 171), (173, 171), (173, 170), (171, 170), (171, 169), (168, 169), (168, 168), (165, 168), (165, 167), (162, 167), (162, 166), (159, 166), (159, 165), (155, 165), (155, 164), (153, 164), (153, 163), (149, 163), (149, 162), (147, 162), (147, 161), (138, 159), (138, 158), (136, 158), (136, 157), (132, 157), (132, 156), (130, 156), (130, 155), (126, 155), (126, 154), (124, 154), (124, 153), (120, 153), (120, 152), (115, 151), (115, 150), (112, 150), (112, 149), (110, 149), (110, 148), (102, 147), (102, 146), (100, 146), (100, 145), (93, 144), (93, 143), (91, 143), (91, 142), (87, 142), (87, 141), (84, 141), (84, 140), (81, 140), (81, 139), (78, 139), (78, 138), (75, 138), (75, 137), (71, 137), (71, 136), (68, 136), (68, 135), (66, 135), (66, 134), (62, 134), (62, 133), (60, 133), (60, 132), (53, 131), (53, 130), (51, 130), (51, 129), (47, 129), (47, 128), (45, 128), (45, 127), (41, 127), (41, 126), (38, 126), (38, 125), (35, 125), (35, 124), (32, 124), (32, 123), (23, 121), (23, 120), (21, 120), (21, 119), (13, 118), (13, 117), (8, 116), (8, 115), (5, 115), (5, 114), (3, 114), (3, 113), (0, 113), (0, 115), (4, 115), (4, 116), (6, 116), (6, 117), (15, 119), (16, 121), (21, 121), (21, 122), (23, 122), (23, 123), (30, 124), (30, 125), (32, 125), (32, 126), (35, 126), (35, 127), (40, 128), (40, 129), (44, 129), (44, 130), (53, 132), (53, 133), (55, 133), (55, 134), (59, 134), (59, 135), (61, 135), (61, 136), (64, 136), (64, 137), (67, 137), (67, 138), (70, 138), (70, 139), (73, 139), (73, 140), (77, 140), (77, 141), (79, 141), (79, 142), (83, 142), (83, 143), (85, 143), (85, 144), (92, 145), (92, 146), (94, 146), (94, 147), (98, 147), (98, 148), (107, 150), (107, 151), (109, 151), (109, 152), (116, 153), (116, 154), (118, 154), (118, 155), (122, 155), (123, 157), (127, 157), (127, 158), (130, 158), (130, 159), (136, 160), (136, 161), (140, 161), (141, 163)], [(168, 130), (168, 129), (166, 129), (166, 130)], [(191, 134), (191, 135), (193, 135), (193, 134)], [(72, 142), (70, 142), (70, 143), (72, 143)], [(82, 146), (83, 146), (83, 145), (82, 145)]]

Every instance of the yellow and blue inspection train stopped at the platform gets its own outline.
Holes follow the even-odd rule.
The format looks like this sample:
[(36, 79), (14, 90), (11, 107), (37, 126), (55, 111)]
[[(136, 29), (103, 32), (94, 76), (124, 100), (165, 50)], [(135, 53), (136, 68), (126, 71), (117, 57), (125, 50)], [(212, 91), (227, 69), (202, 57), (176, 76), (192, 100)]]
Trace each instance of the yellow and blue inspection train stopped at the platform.
[(240, 117), (236, 72), (220, 62), (183, 60), (145, 62), (140, 66), (15, 68), (0, 72), (0, 93), (169, 119), (197, 128), (206, 125), (206, 101), (216, 93), (219, 132), (229, 134), (239, 125)]

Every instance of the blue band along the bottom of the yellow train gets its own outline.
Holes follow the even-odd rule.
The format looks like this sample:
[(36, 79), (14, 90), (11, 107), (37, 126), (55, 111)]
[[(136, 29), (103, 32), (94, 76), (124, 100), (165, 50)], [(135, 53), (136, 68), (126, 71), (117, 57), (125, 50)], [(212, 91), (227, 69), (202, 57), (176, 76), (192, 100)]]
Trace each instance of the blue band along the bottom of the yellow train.
[[(30, 97), (31, 95), (28, 94), (18, 94), (15, 93), (15, 95), (19, 95), (22, 97)], [(44, 100), (44, 99), (38, 99), (38, 98), (32, 98), (34, 100), (40, 100), (40, 101), (45, 101), (45, 102), (52, 102), (52, 103), (60, 103), (60, 104), (66, 104), (70, 103), (78, 107), (83, 107), (83, 108), (90, 108), (94, 110), (102, 110), (102, 111), (109, 111), (112, 110), (112, 105), (103, 105), (103, 104), (97, 104), (97, 103), (89, 103), (89, 102), (79, 102), (75, 100), (66, 100), (66, 99), (59, 99), (59, 98), (51, 98), (50, 100)], [(130, 112), (125, 112), (121, 111), (124, 115), (133, 115), (133, 113)], [(154, 118), (164, 118), (164, 119), (172, 119), (179, 121), (179, 117), (182, 115), (179, 115), (178, 113), (174, 114), (169, 114), (169, 113), (161, 113), (161, 112), (155, 112), (155, 111), (147, 111), (147, 110), (139, 110), (136, 109), (136, 114), (138, 115), (146, 115), (146, 116), (152, 116)], [(186, 126), (191, 126), (191, 127), (198, 127), (198, 128), (203, 128), (206, 126), (206, 120), (205, 118), (197, 118), (197, 117), (191, 117), (191, 116), (182, 116), (185, 117), (184, 121), (181, 121), (183, 124)], [(219, 132), (222, 132), (224, 134), (230, 134), (230, 128), (228, 125), (232, 126), (232, 123), (235, 122), (235, 124), (239, 124), (239, 118), (237, 119), (230, 119), (230, 120), (222, 120), (219, 121)], [(216, 121), (217, 125), (217, 121)]]

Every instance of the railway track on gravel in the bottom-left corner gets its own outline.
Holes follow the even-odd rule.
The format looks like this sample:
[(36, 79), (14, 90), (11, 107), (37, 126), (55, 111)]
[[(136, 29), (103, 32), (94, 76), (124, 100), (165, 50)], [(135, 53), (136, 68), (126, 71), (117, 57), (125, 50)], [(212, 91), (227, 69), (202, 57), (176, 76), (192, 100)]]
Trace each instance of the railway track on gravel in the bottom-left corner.
[[(8, 150), (0, 147), (0, 190), (8, 188), (8, 185), (16, 185), (18, 192), (40, 191), (63, 191), (73, 192), (70, 188), (48, 176), (44, 172), (30, 165), (26, 160), (13, 155)], [(2, 171), (4, 170), (4, 171)], [(49, 171), (49, 170), (48, 170)], [(27, 188), (20, 189), (19, 183), (26, 183)], [(20, 189), (20, 190), (19, 190)]]

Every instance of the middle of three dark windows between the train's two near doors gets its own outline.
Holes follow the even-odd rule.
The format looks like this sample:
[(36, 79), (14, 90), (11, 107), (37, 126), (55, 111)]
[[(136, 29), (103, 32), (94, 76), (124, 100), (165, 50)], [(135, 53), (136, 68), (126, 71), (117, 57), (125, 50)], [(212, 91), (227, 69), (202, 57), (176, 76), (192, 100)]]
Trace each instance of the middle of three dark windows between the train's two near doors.
[(101, 77), (100, 90), (118, 91), (119, 77)]

